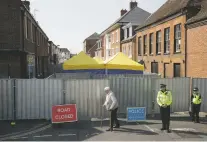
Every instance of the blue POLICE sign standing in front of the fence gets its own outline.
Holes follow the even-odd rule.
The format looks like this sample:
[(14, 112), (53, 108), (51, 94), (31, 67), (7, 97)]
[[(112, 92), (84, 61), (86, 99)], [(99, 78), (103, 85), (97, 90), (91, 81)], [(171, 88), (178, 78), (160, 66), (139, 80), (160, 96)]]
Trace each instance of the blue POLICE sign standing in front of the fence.
[(127, 121), (136, 122), (146, 120), (146, 107), (127, 108)]

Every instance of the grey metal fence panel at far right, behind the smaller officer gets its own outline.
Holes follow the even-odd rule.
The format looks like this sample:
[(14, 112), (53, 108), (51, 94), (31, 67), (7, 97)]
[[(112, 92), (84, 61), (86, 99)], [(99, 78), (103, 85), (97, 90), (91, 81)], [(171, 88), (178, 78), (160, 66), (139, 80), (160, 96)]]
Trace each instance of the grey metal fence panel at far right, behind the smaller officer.
[(192, 87), (198, 87), (202, 97), (201, 112), (207, 112), (207, 79), (194, 78)]

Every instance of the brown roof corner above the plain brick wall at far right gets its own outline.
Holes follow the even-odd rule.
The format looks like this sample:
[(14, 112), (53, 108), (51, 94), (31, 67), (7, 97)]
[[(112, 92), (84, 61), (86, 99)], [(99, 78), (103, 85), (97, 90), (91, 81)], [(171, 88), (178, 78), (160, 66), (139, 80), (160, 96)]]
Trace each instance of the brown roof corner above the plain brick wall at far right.
[(206, 19), (207, 19), (207, 0), (202, 0), (201, 10), (194, 17), (190, 18), (186, 22), (186, 24), (191, 24)]

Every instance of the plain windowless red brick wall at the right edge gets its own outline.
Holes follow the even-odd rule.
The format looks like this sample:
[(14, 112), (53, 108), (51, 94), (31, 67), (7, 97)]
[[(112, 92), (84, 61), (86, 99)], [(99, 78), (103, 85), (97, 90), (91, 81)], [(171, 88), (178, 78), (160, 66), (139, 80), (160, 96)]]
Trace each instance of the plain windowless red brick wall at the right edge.
[(187, 76), (207, 77), (207, 25), (187, 30)]

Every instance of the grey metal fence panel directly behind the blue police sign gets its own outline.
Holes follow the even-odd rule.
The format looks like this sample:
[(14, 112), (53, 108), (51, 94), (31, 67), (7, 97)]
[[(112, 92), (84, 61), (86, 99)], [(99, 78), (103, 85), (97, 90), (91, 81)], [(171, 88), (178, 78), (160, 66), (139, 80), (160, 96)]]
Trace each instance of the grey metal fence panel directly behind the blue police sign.
[(152, 80), (139, 77), (112, 77), (111, 89), (119, 102), (119, 113), (126, 114), (127, 107), (146, 107), (152, 111)]

